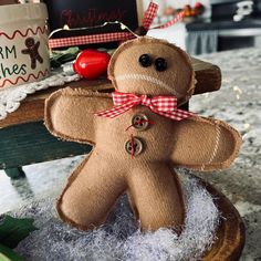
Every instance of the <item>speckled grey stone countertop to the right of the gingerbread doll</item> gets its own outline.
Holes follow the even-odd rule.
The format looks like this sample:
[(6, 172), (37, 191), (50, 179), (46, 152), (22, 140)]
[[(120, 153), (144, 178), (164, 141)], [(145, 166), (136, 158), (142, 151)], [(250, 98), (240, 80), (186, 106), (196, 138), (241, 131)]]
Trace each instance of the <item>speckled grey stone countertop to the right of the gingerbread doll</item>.
[(201, 56), (222, 70), (222, 88), (194, 96), (190, 109), (228, 122), (243, 137), (230, 169), (198, 174), (219, 188), (243, 218), (247, 241), (241, 260), (261, 260), (261, 49)]

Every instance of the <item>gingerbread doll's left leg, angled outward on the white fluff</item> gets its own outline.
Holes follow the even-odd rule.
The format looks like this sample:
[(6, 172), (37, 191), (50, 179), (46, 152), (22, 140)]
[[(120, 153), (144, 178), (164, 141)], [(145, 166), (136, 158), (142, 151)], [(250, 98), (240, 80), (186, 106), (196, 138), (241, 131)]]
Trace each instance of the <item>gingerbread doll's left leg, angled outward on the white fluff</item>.
[(126, 190), (117, 166), (94, 154), (70, 177), (58, 201), (60, 217), (84, 230), (102, 225), (118, 196)]

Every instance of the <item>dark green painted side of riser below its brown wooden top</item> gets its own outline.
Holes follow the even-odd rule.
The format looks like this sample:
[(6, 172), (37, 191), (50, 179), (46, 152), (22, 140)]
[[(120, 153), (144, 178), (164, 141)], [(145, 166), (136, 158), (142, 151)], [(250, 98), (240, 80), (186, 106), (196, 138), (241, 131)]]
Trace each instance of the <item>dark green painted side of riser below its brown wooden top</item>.
[(92, 149), (90, 145), (53, 137), (42, 121), (2, 128), (0, 137), (0, 169), (83, 155)]

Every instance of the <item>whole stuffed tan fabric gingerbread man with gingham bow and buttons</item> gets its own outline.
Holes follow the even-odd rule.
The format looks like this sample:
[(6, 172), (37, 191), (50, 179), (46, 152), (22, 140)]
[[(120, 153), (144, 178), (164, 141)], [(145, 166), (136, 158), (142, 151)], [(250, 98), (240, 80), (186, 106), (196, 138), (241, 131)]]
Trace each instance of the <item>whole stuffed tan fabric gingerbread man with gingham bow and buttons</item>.
[(65, 88), (46, 100), (45, 125), (53, 135), (94, 145), (69, 178), (58, 212), (91, 229), (105, 222), (127, 191), (143, 230), (178, 231), (185, 205), (174, 166), (227, 168), (241, 138), (226, 123), (179, 108), (194, 93), (195, 73), (189, 56), (166, 41), (125, 42), (111, 59), (108, 76), (113, 94)]

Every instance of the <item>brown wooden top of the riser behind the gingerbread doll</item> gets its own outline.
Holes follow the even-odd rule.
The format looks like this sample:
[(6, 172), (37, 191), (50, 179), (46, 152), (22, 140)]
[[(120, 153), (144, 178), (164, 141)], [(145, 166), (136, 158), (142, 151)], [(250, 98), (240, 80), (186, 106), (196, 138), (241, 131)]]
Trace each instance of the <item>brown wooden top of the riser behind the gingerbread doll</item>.
[[(201, 94), (206, 92), (213, 92), (221, 86), (221, 72), (217, 65), (206, 63), (197, 59), (192, 59), (194, 69), (196, 72), (196, 90), (195, 94)], [(100, 92), (112, 92), (113, 86), (107, 80), (86, 81), (82, 80), (65, 84), (62, 87), (84, 87), (92, 91)], [(61, 87), (52, 87), (45, 91), (36, 92), (35, 94), (29, 95), (19, 107), (18, 111), (8, 115), (3, 121), (0, 121), (0, 128), (43, 119), (44, 101), (45, 98), (56, 90)]]

